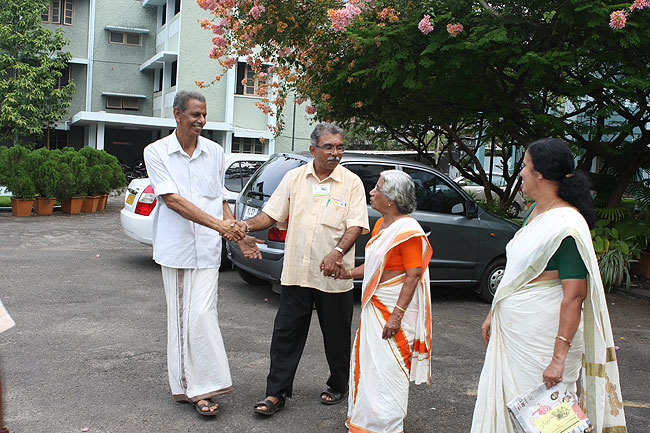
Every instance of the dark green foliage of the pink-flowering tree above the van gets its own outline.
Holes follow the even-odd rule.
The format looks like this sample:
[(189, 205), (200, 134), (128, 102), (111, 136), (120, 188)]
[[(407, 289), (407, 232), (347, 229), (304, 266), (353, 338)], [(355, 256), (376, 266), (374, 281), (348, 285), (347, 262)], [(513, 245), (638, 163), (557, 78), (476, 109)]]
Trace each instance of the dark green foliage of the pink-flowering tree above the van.
[[(245, 36), (260, 47), (260, 62), (286, 48), (278, 61), (299, 75), (287, 91), (310, 99), (319, 119), (365, 126), (419, 152), (429, 137), (443, 136), (457, 168), (482, 164), (472, 143), (479, 133), (503, 147), (563, 137), (583, 168), (600, 158), (611, 176), (602, 194), (608, 208), (650, 165), (648, 10), (613, 30), (609, 14), (629, 3), (396, 0), (373, 2), (336, 32), (327, 11), (344, 2), (260, 0), (266, 12), (257, 21), (250, 2), (237, 4), (240, 28), (258, 25)], [(399, 19), (380, 22), (377, 12), (388, 5)], [(434, 25), (427, 35), (417, 27), (424, 14)], [(463, 32), (450, 36), (450, 23), (462, 23)]]

